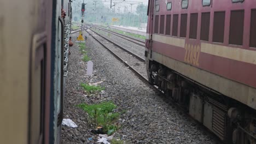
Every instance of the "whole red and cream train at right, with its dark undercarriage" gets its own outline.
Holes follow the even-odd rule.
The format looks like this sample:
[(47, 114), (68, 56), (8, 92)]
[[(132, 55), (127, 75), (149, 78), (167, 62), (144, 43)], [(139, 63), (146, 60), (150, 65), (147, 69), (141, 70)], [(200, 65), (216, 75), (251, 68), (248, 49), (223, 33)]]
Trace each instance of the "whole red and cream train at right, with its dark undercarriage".
[(224, 143), (256, 143), (256, 1), (152, 0), (148, 80)]

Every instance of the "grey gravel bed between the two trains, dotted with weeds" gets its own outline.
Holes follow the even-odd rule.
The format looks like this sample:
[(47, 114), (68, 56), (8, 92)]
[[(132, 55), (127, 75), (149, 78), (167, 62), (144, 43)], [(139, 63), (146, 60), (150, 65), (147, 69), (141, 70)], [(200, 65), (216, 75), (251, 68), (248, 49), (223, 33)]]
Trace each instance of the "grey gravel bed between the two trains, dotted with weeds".
[[(73, 34), (72, 38), (77, 36)], [(86, 63), (75, 43), (69, 57), (64, 118), (72, 119), (78, 128), (62, 126), (62, 143), (97, 143), (97, 136), (90, 132), (87, 113), (76, 105), (106, 100), (112, 100), (118, 105), (117, 111), (123, 112), (119, 119), (121, 128), (114, 134), (115, 139), (128, 143), (219, 143), (215, 136), (139, 80), (96, 40), (86, 36), (94, 76), (85, 75)], [(80, 87), (81, 82), (98, 81), (103, 81), (100, 85), (106, 88), (101, 94), (89, 97)], [(92, 140), (88, 140), (90, 137)]]

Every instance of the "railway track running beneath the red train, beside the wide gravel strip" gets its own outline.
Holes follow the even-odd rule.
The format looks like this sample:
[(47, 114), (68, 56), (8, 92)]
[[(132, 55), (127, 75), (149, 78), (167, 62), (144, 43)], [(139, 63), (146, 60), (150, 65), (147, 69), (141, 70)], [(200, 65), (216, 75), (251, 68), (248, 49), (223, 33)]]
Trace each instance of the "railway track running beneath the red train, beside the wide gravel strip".
[[(121, 46), (114, 44), (114, 42), (112, 43), (112, 41), (108, 40), (103, 35), (93, 31), (90, 28), (85, 29), (85, 31), (89, 35), (91, 35), (92, 38), (94, 38), (96, 41), (98, 41), (98, 43), (100, 43), (104, 48), (106, 48), (108, 51), (110, 51), (116, 58), (118, 58), (119, 61), (123, 62), (129, 69), (131, 69), (139, 77), (139, 79), (142, 79), (144, 82), (149, 83), (148, 78), (147, 78), (147, 72), (146, 72), (146, 64), (144, 63), (145, 62), (144, 59), (136, 57), (136, 55), (134, 53), (130, 53), (130, 55), (127, 55), (128, 52), (126, 52), (126, 50), (124, 48), (121, 48)], [(165, 97), (167, 100), (170, 101), (170, 103), (172, 105), (178, 107), (179, 111), (184, 112), (185, 115), (188, 116), (188, 118), (190, 118), (192, 121), (194, 121), (194, 118), (189, 115), (187, 109), (185, 109), (181, 105), (178, 105), (172, 99), (167, 98), (166, 95), (157, 86), (152, 86), (150, 84), (149, 84), (149, 86), (152, 87), (153, 89), (155, 89), (155, 91), (158, 91), (162, 97)], [(194, 122), (197, 123), (198, 125), (200, 125), (201, 128), (205, 129), (205, 127), (201, 123), (199, 123), (197, 121), (194, 121)], [(214, 137), (216, 137), (216, 140), (218, 141), (218, 143), (222, 143), (222, 141), (220, 141), (218, 139), (218, 137), (216, 135), (214, 135), (211, 131), (208, 131), (207, 129), (205, 129), (205, 131), (207, 133), (213, 135)]]

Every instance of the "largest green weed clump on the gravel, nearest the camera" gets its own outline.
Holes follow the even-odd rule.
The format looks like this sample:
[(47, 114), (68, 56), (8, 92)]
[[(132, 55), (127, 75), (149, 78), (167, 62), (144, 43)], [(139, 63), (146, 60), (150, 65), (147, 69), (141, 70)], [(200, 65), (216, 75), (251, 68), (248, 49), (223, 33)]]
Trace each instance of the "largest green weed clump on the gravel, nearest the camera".
[(81, 107), (89, 115), (90, 122), (95, 127), (102, 127), (103, 132), (108, 135), (112, 135), (118, 126), (114, 122), (119, 118), (119, 113), (113, 112), (117, 108), (117, 105), (113, 104), (111, 101), (102, 102), (100, 104), (80, 104)]

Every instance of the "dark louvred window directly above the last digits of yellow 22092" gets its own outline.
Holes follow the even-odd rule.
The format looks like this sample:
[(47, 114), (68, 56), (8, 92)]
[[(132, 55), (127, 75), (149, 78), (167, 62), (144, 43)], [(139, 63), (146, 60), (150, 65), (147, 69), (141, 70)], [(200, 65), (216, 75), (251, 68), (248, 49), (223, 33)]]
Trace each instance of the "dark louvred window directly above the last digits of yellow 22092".
[(189, 38), (196, 39), (197, 36), (197, 17), (198, 14), (190, 14)]

